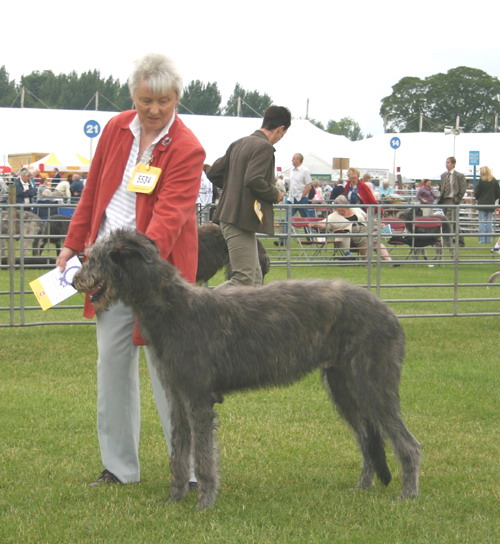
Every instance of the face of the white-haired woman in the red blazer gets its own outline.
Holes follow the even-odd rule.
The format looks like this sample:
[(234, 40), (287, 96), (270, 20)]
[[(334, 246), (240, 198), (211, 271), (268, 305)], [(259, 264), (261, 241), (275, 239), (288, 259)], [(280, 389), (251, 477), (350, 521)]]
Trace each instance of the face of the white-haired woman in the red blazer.
[(145, 81), (139, 84), (132, 100), (141, 125), (146, 130), (158, 133), (168, 124), (179, 103), (173, 89), (158, 96), (151, 92)]

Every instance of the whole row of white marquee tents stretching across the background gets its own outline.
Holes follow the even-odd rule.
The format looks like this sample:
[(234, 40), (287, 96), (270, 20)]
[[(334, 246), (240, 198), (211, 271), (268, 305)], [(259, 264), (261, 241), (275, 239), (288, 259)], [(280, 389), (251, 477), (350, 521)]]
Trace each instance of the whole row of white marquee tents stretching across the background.
[[(91, 158), (98, 137), (89, 138), (84, 126), (97, 121), (101, 130), (115, 112), (49, 110), (35, 108), (0, 108), (0, 165), (7, 164), (9, 154), (16, 153), (78, 153)], [(260, 119), (203, 115), (181, 115), (207, 152), (207, 163), (221, 156), (229, 144), (260, 127)], [(401, 145), (395, 151), (390, 145), (397, 136)], [(455, 154), (457, 169), (472, 174), (469, 152), (479, 151), (480, 165), (488, 165), (500, 178), (500, 134), (442, 133), (381, 134), (351, 142), (343, 136), (328, 134), (307, 120), (293, 120), (285, 137), (276, 144), (276, 166), (286, 171), (292, 155), (304, 155), (304, 164), (313, 174), (338, 172), (330, 169), (332, 160), (349, 158), (350, 165), (360, 169), (386, 170), (396, 168), (410, 179), (439, 178), (446, 157)]]

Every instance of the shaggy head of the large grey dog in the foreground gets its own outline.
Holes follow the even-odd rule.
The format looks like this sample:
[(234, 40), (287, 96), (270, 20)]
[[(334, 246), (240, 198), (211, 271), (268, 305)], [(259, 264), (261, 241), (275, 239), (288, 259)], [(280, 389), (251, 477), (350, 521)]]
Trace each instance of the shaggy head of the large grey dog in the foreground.
[(130, 297), (149, 282), (149, 267), (158, 259), (156, 244), (134, 230), (120, 229), (92, 246), (73, 278), (77, 291), (88, 292), (98, 309)]

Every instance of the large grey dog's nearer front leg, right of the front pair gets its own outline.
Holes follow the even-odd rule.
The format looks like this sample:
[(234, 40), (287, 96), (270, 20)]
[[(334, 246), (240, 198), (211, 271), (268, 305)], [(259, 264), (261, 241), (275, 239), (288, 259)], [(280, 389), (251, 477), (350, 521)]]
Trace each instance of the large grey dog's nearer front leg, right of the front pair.
[(215, 442), (215, 411), (213, 398), (197, 398), (191, 407), (194, 470), (198, 480), (198, 508), (213, 505), (217, 496), (217, 445)]

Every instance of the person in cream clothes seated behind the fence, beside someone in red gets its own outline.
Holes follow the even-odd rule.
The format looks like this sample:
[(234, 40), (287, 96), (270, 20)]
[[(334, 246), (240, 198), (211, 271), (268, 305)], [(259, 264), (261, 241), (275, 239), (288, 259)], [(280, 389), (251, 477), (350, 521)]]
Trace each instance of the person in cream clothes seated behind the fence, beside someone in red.
[[(336, 238), (335, 241), (340, 242), (347, 256), (349, 256), (351, 248), (356, 249), (360, 255), (365, 256), (369, 240), (366, 213), (361, 208), (349, 208), (349, 201), (344, 195), (338, 196), (334, 200), (334, 204), (345, 205), (345, 207), (337, 208), (324, 221), (314, 223), (314, 227), (328, 229), (333, 232), (350, 233), (350, 236)], [(377, 249), (382, 260), (392, 262), (392, 258), (382, 242), (377, 244), (373, 240), (373, 247)], [(399, 265), (393, 264), (393, 266)]]

